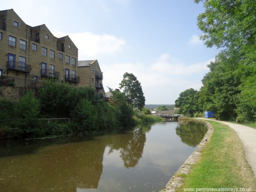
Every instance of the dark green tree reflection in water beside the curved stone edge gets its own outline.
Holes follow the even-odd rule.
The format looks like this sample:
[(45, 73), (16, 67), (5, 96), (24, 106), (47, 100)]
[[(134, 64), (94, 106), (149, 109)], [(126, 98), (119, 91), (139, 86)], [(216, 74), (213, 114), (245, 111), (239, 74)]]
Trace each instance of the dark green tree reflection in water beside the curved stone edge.
[(181, 138), (181, 141), (192, 147), (201, 142), (206, 132), (207, 127), (204, 123), (193, 121), (180, 122), (176, 128), (176, 134)]

